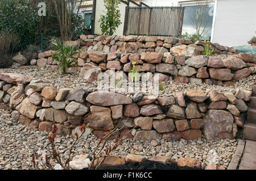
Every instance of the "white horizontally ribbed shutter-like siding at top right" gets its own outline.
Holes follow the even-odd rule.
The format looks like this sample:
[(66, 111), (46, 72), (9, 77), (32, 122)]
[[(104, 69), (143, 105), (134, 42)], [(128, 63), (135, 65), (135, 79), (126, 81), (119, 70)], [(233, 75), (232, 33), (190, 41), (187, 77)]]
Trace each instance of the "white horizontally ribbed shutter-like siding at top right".
[(247, 45), (256, 31), (256, 0), (217, 0), (213, 43)]

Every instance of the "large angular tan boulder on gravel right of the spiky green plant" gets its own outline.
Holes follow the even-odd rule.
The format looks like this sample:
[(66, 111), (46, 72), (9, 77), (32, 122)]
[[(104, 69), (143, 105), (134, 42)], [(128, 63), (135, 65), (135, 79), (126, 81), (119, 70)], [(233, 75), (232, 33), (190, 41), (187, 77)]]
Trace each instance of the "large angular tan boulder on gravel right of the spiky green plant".
[(85, 79), (86, 82), (92, 83), (97, 81), (98, 75), (101, 73), (101, 68), (92, 64), (84, 64), (81, 68), (79, 78)]

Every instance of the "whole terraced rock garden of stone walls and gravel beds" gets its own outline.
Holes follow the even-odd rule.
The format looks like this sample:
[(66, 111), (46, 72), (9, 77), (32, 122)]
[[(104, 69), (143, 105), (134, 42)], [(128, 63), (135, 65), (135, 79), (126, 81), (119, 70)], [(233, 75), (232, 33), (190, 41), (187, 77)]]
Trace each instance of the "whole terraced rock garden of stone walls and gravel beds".
[[(32, 153), (50, 155), (47, 136), (53, 125), (58, 128), (56, 151), (67, 159), (68, 146), (90, 121), (74, 148), (79, 155), (71, 161), (72, 169), (88, 167), (81, 160), (91, 160), (97, 140), (117, 125), (123, 129), (116, 134), (127, 138), (102, 166), (150, 159), (228, 168), (247, 116), (255, 56), (174, 37), (81, 35), (66, 44), (82, 49), (73, 56), (79, 67), (68, 74), (57, 73), (53, 50), (33, 60), (18, 55), (12, 68), (0, 70), (0, 169), (32, 169)], [(204, 55), (205, 46), (213, 56)], [(109, 90), (98, 90), (104, 85), (98, 79), (102, 73), (120, 81), (132, 68), (142, 77), (139, 82), (159, 77), (163, 87), (157, 95), (152, 89), (127, 92), (122, 86), (110, 91), (111, 83)], [(56, 162), (52, 165), (60, 169)]]

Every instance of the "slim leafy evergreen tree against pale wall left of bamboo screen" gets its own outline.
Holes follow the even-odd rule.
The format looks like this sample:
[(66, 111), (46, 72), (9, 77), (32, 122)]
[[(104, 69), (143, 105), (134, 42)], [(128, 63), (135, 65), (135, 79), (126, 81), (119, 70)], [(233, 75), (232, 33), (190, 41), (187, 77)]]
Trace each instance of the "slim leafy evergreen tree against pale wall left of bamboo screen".
[(121, 14), (120, 10), (118, 10), (119, 4), (120, 0), (104, 0), (106, 12), (105, 15), (101, 15), (99, 20), (102, 35), (113, 35), (121, 24)]

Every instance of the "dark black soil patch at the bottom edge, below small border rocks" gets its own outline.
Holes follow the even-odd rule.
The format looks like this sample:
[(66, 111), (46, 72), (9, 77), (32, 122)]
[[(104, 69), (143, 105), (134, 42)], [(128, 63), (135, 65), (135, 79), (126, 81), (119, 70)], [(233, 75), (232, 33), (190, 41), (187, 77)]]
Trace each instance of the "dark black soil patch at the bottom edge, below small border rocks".
[(176, 164), (169, 163), (164, 165), (160, 162), (154, 161), (146, 161), (143, 163), (135, 162), (135, 163), (125, 163), (125, 165), (117, 165), (117, 166), (108, 166), (108, 167), (100, 167), (98, 170), (201, 170), (192, 167), (181, 167)]

